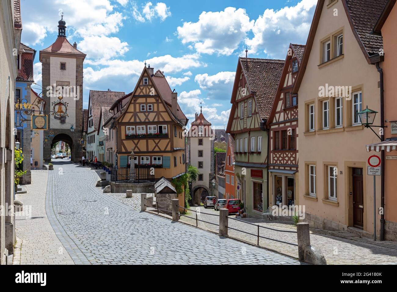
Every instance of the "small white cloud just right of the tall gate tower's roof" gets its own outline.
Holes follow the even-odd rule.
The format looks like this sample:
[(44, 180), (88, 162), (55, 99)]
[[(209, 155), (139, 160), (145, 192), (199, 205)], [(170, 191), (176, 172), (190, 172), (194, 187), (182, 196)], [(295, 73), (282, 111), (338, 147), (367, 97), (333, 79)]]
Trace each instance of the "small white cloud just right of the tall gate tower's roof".
[(121, 42), (117, 37), (91, 36), (85, 37), (79, 43), (79, 50), (87, 54), (89, 58), (110, 59), (116, 56), (122, 56), (127, 52), (128, 44)]

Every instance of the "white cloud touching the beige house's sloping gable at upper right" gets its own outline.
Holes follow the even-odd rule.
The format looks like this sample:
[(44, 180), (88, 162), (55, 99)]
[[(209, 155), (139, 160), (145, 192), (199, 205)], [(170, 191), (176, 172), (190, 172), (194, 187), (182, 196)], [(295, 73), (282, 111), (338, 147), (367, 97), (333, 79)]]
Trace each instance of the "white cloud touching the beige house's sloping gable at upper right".
[(250, 53), (263, 50), (273, 58), (284, 58), (289, 43), (305, 44), (317, 0), (302, 0), (296, 6), (278, 11), (266, 9), (256, 19), (252, 32), (246, 39)]

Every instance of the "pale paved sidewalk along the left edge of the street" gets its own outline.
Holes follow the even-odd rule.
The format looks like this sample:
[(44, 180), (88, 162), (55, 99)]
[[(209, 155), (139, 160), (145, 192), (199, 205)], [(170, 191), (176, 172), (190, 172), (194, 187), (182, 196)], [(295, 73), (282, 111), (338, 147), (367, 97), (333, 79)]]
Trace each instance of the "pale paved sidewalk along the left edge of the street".
[(23, 203), (24, 209), (15, 213), (17, 244), (13, 264), (73, 264), (47, 218), (45, 201), (48, 170), (32, 170), (31, 174), (32, 184), (25, 186), (27, 193), (15, 195), (15, 199)]

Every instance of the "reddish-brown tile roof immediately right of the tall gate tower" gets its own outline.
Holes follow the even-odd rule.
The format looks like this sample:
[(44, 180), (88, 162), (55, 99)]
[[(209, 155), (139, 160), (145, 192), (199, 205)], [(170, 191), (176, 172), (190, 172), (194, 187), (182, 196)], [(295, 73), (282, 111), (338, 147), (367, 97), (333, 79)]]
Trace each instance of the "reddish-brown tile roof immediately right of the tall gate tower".
[[(98, 130), (99, 116), (102, 106), (112, 106), (112, 104), (123, 97), (125, 92), (123, 91), (99, 91), (90, 90), (89, 95), (89, 106), (91, 104), (91, 114), (93, 116), (94, 130)], [(88, 117), (87, 117), (88, 118)]]

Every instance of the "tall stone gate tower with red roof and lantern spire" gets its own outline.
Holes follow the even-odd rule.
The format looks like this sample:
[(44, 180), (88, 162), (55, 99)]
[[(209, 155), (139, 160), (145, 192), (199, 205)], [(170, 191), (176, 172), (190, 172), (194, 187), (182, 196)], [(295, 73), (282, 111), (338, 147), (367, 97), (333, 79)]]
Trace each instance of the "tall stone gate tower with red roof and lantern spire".
[[(71, 160), (83, 155), (83, 62), (86, 54), (66, 39), (63, 15), (58, 21), (58, 37), (40, 50), (43, 99), (46, 101), (48, 130), (44, 131), (43, 157), (51, 160), (51, 147), (65, 141), (71, 148)], [(71, 131), (71, 128), (74, 131)]]

